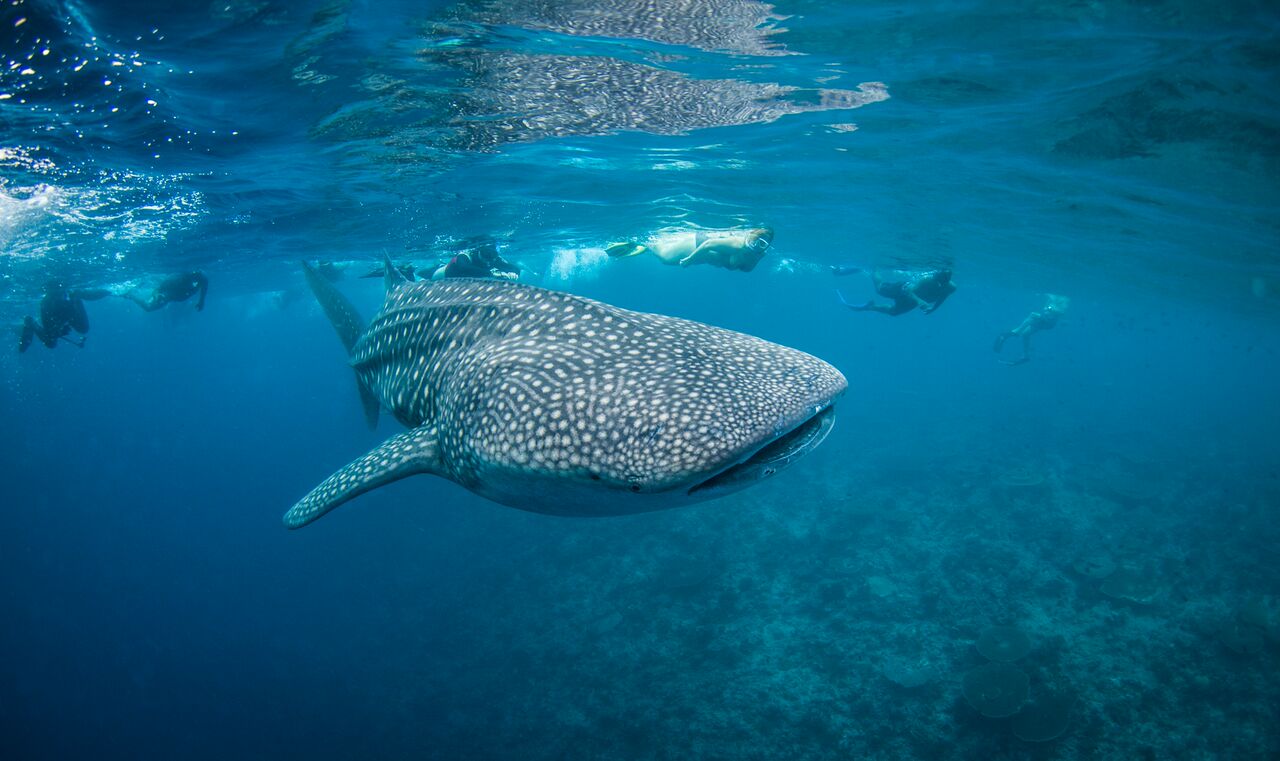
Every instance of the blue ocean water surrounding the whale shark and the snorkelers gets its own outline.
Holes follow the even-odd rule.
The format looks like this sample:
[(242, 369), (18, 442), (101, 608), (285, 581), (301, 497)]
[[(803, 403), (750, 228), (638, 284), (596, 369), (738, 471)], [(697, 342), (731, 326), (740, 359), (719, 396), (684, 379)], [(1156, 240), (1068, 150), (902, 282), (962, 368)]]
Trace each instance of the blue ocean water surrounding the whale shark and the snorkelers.
[[(1272, 4), (17, 0), (0, 45), (0, 321), (210, 280), (6, 334), (5, 757), (1280, 755)], [(603, 252), (759, 225), (751, 272)], [(285, 531), (398, 430), (297, 262), (369, 316), (477, 235), (827, 359), (835, 431), (677, 510), (420, 477)], [(957, 292), (854, 313), (845, 263)]]

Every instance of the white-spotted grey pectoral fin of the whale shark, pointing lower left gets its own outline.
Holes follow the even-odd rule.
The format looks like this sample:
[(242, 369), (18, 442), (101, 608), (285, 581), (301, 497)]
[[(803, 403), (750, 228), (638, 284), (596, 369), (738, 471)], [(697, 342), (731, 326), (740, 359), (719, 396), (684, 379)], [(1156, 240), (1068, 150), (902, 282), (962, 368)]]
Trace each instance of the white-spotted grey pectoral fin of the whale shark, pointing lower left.
[(284, 514), (284, 526), (301, 528), (329, 510), (379, 486), (417, 473), (439, 473), (435, 430), (413, 428), (392, 436), (311, 490)]

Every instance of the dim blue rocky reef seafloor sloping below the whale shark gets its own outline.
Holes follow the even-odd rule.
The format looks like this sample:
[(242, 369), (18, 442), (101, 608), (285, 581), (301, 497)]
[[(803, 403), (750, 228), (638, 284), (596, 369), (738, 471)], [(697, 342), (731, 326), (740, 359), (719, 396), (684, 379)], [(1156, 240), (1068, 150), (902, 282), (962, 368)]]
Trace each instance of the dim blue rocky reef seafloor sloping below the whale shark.
[(837, 454), (685, 510), (485, 513), (518, 549), (388, 595), (370, 732), (435, 757), (1280, 755), (1274, 482)]

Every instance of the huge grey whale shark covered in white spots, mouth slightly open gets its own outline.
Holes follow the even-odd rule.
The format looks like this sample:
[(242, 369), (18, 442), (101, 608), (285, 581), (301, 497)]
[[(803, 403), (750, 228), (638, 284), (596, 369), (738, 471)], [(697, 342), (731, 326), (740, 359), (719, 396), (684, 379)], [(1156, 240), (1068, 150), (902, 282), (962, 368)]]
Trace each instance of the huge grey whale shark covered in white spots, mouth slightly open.
[(556, 515), (723, 496), (817, 448), (847, 388), (822, 359), (741, 333), (521, 283), (411, 283), (390, 265), (366, 329), (332, 281), (303, 272), (369, 425), (387, 409), (408, 430), (311, 490), (289, 528), (419, 473)]

